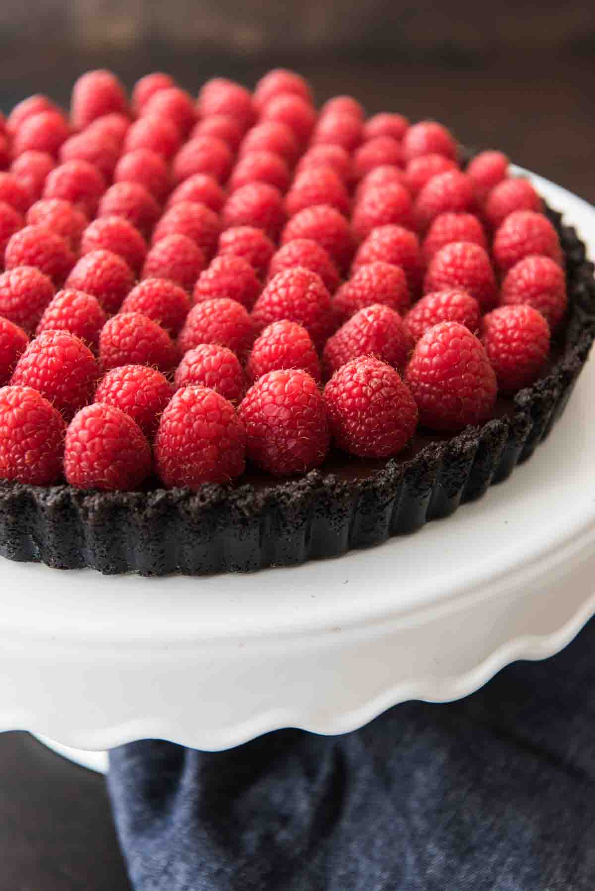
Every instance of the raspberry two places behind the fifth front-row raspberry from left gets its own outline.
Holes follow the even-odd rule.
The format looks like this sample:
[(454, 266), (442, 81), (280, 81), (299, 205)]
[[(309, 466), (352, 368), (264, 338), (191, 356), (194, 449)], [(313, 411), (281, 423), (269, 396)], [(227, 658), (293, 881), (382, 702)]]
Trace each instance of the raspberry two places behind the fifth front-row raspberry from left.
[(348, 282), (335, 294), (333, 308), (340, 323), (346, 322), (359, 309), (379, 303), (398, 313), (406, 313), (411, 303), (407, 277), (399, 266), (370, 263), (358, 266)]

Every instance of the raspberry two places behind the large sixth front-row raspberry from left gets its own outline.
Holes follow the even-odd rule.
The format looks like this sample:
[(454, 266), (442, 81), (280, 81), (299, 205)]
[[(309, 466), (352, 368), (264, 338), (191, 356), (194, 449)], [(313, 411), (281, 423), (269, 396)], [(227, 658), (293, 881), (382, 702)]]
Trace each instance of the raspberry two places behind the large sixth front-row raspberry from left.
[(471, 241), (452, 241), (434, 254), (427, 267), (424, 292), (463, 288), (475, 297), (482, 312), (496, 302), (496, 280), (490, 257)]

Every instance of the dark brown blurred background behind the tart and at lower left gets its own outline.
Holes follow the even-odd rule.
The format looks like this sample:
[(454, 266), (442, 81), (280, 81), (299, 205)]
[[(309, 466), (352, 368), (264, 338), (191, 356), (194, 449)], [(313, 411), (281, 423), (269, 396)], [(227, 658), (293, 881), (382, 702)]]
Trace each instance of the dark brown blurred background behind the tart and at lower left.
[[(111, 68), (166, 70), (194, 94), (299, 69), (318, 102), (434, 117), (475, 148), (595, 201), (591, 3), (417, 0), (1, 0), (0, 108)], [(0, 736), (0, 891), (125, 891), (103, 779), (24, 733)]]

